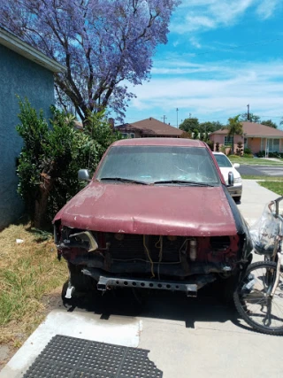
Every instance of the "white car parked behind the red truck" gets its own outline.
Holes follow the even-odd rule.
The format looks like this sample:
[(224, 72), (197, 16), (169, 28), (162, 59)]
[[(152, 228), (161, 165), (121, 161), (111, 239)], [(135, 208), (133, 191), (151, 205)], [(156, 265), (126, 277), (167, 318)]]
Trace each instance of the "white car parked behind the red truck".
[(226, 184), (228, 183), (229, 172), (233, 173), (233, 186), (228, 187), (228, 190), (235, 201), (240, 201), (242, 190), (241, 174), (239, 174), (236, 169), (239, 168), (240, 164), (232, 164), (229, 158), (227, 158), (226, 155), (222, 152), (213, 152), (213, 155), (218, 162), (218, 166), (220, 168), (221, 174), (224, 177), (224, 180), (226, 181)]

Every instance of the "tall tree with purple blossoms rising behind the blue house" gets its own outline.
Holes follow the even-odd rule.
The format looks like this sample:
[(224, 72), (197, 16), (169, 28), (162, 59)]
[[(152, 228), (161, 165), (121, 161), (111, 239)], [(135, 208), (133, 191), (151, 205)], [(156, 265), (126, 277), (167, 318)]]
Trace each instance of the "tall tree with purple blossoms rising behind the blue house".
[(152, 55), (166, 43), (180, 0), (12, 0), (1, 22), (66, 67), (55, 74), (57, 100), (81, 120), (106, 106), (119, 118), (134, 94), (126, 81), (149, 79)]

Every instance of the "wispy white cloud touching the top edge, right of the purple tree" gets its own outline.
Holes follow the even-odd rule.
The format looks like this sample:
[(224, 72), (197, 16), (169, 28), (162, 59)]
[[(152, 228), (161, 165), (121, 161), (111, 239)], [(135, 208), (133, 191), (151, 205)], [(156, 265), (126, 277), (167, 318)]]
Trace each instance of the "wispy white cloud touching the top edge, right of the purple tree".
[(175, 12), (171, 31), (184, 34), (234, 25), (248, 10), (267, 19), (280, 0), (183, 0)]

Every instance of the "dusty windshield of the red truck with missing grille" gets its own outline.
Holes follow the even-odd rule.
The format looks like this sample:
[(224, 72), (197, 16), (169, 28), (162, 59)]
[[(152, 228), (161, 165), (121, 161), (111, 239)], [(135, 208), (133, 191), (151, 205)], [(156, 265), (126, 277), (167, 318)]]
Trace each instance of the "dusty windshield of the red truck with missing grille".
[(163, 181), (166, 184), (181, 184), (180, 181), (184, 184), (219, 184), (216, 167), (206, 149), (175, 146), (112, 147), (103, 159), (96, 179), (156, 184)]

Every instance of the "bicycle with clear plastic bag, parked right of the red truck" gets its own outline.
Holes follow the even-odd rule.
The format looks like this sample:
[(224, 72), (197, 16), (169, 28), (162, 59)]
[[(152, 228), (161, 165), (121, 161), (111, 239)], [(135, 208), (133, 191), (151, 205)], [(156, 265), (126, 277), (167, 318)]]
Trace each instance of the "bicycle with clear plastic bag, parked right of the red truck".
[(243, 320), (257, 332), (276, 336), (283, 336), (283, 213), (279, 213), (282, 200), (279, 197), (268, 204), (269, 213), (256, 222), (257, 232), (251, 233), (254, 251), (264, 255), (264, 261), (250, 264), (240, 274), (233, 293)]

